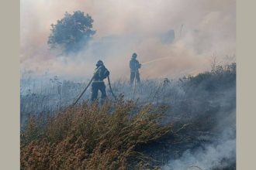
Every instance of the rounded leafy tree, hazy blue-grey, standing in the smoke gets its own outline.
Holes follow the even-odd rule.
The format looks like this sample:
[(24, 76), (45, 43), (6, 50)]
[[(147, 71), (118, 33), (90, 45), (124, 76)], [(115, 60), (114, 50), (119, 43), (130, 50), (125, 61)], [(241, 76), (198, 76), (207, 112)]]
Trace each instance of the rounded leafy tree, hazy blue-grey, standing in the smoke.
[(73, 15), (66, 12), (63, 19), (51, 25), (48, 45), (51, 49), (61, 47), (64, 53), (77, 52), (95, 34), (92, 22), (92, 17), (84, 12), (76, 11)]

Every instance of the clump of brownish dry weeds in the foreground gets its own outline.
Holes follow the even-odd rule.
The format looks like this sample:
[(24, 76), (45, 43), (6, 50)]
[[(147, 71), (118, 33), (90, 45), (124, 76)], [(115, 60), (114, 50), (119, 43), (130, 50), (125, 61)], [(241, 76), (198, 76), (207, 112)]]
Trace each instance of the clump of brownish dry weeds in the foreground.
[(30, 117), (21, 135), (21, 168), (154, 168), (136, 147), (172, 133), (171, 124), (161, 124), (165, 110), (119, 99), (102, 107), (85, 103), (54, 117)]

